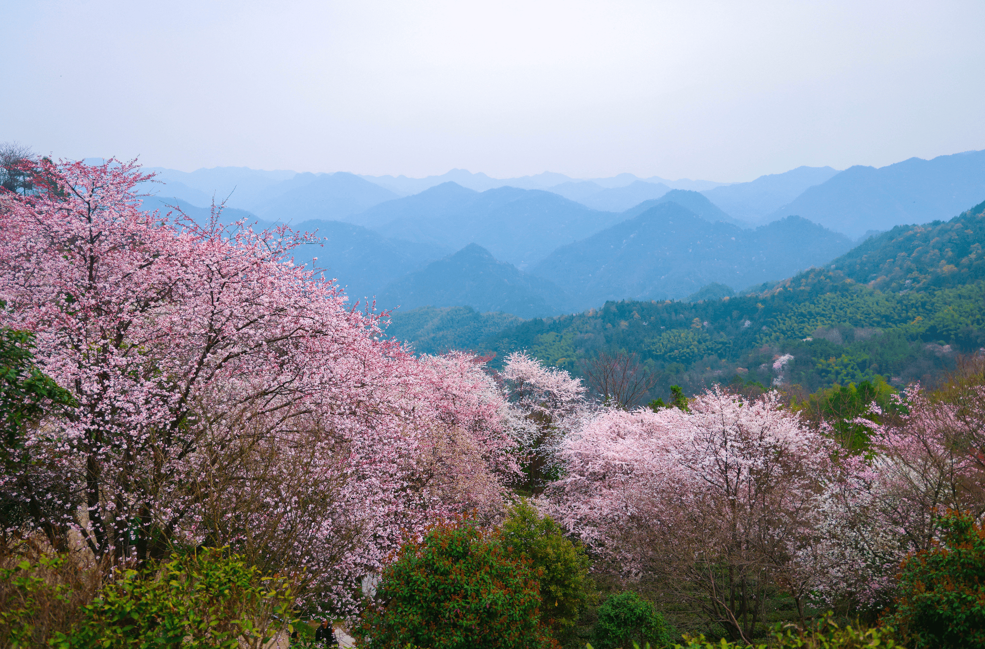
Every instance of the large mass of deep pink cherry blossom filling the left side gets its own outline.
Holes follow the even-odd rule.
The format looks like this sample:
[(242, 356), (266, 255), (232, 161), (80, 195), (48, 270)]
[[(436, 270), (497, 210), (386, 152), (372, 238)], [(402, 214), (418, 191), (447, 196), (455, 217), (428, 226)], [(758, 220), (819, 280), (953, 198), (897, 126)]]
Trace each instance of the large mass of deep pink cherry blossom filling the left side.
[[(31, 195), (0, 195), (0, 324), (35, 334), (79, 405), (32, 431), (32, 471), (51, 474), (34, 482), (67, 486), (33, 525), (117, 561), (232, 545), (344, 601), (406, 534), (493, 498), (514, 443), (481, 367), (384, 340), (379, 315), (292, 263), (303, 234), (143, 211), (150, 179), (41, 161)], [(442, 435), (455, 487), (419, 488)], [(492, 463), (479, 495), (463, 456)]]

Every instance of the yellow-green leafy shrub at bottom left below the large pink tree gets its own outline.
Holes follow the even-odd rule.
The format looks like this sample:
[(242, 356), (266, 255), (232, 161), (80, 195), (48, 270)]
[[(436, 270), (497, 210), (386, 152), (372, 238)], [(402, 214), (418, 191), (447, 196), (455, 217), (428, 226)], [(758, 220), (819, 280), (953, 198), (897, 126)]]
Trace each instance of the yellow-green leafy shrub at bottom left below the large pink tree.
[(58, 633), (57, 649), (259, 647), (291, 621), (288, 580), (221, 549), (176, 556), (160, 567), (127, 569), (84, 607), (77, 628)]

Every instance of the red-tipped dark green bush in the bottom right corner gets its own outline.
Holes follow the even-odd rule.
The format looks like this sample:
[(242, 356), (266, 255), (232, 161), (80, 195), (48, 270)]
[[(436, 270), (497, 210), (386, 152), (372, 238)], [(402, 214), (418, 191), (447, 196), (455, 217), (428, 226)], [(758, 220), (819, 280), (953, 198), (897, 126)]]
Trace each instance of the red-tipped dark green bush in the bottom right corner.
[(939, 526), (943, 542), (903, 563), (887, 621), (916, 649), (985, 647), (985, 528), (957, 512)]

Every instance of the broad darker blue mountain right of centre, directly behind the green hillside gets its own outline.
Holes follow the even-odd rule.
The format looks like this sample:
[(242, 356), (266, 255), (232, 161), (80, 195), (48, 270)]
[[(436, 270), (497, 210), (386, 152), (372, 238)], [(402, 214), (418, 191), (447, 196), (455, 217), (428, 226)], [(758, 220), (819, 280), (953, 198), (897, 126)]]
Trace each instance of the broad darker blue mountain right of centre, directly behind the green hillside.
[(851, 247), (847, 236), (797, 217), (750, 230), (665, 202), (561, 246), (531, 272), (555, 282), (580, 309), (608, 299), (679, 299), (711, 283), (741, 289), (827, 263)]

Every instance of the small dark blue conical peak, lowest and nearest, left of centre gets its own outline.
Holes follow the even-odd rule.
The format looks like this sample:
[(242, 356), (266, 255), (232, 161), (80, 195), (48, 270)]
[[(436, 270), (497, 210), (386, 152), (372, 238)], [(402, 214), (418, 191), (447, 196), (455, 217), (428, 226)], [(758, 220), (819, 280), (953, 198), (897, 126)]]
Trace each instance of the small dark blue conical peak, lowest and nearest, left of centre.
[(391, 283), (380, 295), (383, 308), (471, 306), (521, 318), (558, 315), (567, 308), (564, 292), (547, 280), (496, 260), (470, 243), (453, 255), (427, 264)]

